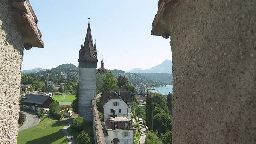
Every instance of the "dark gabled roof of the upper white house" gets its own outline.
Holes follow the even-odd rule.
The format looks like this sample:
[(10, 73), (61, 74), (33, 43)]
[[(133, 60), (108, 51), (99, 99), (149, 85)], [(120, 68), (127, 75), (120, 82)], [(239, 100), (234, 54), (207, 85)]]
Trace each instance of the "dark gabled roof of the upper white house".
[(120, 95), (118, 93), (119, 92), (103, 92), (101, 94), (101, 102), (103, 103), (102, 105), (105, 105), (105, 103), (107, 103), (110, 99), (122, 99), (124, 102), (127, 103), (127, 105), (128, 103), (133, 102), (133, 95), (131, 94), (131, 92), (120, 92)]

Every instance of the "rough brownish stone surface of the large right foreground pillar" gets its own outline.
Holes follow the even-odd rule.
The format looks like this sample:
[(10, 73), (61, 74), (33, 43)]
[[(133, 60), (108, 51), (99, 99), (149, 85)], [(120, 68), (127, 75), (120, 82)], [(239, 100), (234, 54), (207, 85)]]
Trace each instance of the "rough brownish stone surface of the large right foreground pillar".
[(255, 144), (256, 1), (179, 0), (164, 9), (155, 20), (168, 27), (156, 23), (152, 34), (171, 36), (173, 144)]

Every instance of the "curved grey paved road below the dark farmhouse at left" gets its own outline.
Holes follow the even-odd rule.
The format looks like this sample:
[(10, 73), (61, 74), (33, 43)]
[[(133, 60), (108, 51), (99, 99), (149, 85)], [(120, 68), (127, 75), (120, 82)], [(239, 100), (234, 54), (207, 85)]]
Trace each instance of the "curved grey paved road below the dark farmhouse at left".
[(19, 131), (35, 126), (40, 122), (40, 118), (38, 118), (34, 112), (25, 112), (25, 111), (22, 111), (22, 112), (23, 114), (26, 115), (26, 120), (24, 121), (23, 126), (19, 128)]

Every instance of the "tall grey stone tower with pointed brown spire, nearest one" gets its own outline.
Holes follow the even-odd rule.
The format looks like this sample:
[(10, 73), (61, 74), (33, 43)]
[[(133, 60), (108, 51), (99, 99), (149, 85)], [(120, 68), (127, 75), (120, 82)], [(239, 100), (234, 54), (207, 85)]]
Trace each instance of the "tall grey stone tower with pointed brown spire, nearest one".
[(91, 100), (96, 99), (96, 68), (97, 57), (94, 53), (93, 39), (91, 36), (90, 18), (84, 45), (79, 50), (79, 91), (78, 91), (78, 114), (85, 121), (91, 121)]

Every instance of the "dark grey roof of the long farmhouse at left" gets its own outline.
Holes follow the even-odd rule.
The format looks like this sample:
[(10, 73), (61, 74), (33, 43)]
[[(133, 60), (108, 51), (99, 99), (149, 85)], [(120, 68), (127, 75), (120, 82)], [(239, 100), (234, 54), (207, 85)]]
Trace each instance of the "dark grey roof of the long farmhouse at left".
[(52, 98), (48, 96), (37, 95), (37, 94), (26, 94), (21, 99), (21, 102), (35, 103), (38, 105), (42, 105), (47, 99), (52, 99)]

